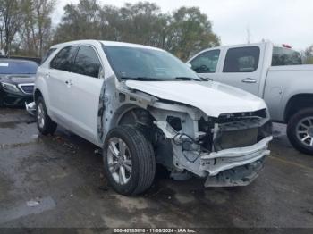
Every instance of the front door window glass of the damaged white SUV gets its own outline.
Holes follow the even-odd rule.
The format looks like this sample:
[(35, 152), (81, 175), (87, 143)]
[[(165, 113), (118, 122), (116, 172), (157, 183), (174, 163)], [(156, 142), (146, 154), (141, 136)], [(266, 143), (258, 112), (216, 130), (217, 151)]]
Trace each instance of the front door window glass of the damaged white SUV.
[(98, 78), (101, 63), (95, 50), (90, 46), (80, 46), (72, 72)]

